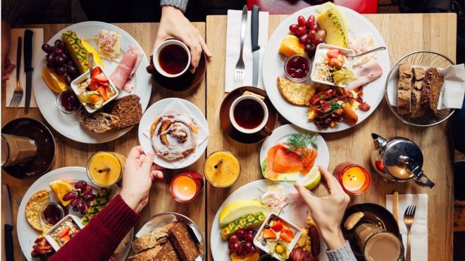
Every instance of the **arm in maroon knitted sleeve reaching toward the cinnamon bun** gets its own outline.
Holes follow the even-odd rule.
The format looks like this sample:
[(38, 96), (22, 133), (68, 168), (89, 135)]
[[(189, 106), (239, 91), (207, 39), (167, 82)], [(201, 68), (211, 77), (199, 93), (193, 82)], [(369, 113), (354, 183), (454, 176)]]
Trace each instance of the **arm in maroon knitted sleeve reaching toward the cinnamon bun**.
[(49, 260), (109, 260), (140, 219), (137, 213), (149, 201), (151, 182), (163, 178), (160, 168), (154, 165), (154, 158), (153, 152), (145, 155), (140, 146), (132, 148), (124, 166), (120, 195)]

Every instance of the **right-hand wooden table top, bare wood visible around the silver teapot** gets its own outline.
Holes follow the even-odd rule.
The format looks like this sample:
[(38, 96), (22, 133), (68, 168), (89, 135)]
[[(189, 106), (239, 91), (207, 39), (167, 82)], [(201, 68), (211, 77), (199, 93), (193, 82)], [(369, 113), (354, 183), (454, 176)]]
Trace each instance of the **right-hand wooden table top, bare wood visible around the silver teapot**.
[[(283, 21), (286, 15), (271, 15), (268, 36)], [(405, 54), (416, 50), (432, 50), (444, 53), (455, 60), (456, 21), (455, 14), (379, 14), (365, 15), (375, 25), (385, 39), (390, 61), (395, 63)], [(226, 16), (208, 16), (206, 19), (206, 43), (213, 52), (213, 59), (206, 73), (206, 108), (210, 126), (210, 140), (207, 154), (218, 150), (231, 151), (241, 164), (241, 175), (229, 189), (218, 189), (207, 185), (206, 204), (209, 234), (216, 211), (223, 200), (235, 189), (261, 179), (259, 150), (261, 144), (239, 144), (221, 130), (219, 109), (225, 96), (225, 43)], [(387, 72), (384, 72), (387, 73)], [(271, 75), (269, 77), (275, 77)], [(384, 86), (379, 86), (383, 88)], [(280, 124), (287, 123), (281, 119)], [(323, 134), (330, 151), (329, 170), (345, 160), (359, 163), (371, 169), (368, 155), (373, 146), (371, 132), (382, 136), (404, 136), (415, 141), (423, 151), (423, 170), (436, 185), (432, 190), (422, 189), (413, 182), (385, 182), (373, 174), (370, 189), (361, 196), (351, 197), (351, 203), (374, 202), (385, 205), (385, 194), (428, 193), (428, 256), (429, 260), (452, 260), (452, 211), (453, 211), (453, 171), (452, 146), (448, 143), (450, 132), (446, 124), (430, 128), (409, 127), (397, 120), (387, 107), (385, 100), (371, 115), (356, 127), (335, 134)], [(371, 172), (374, 171), (371, 169)], [(326, 193), (323, 186), (316, 193)], [(226, 249), (225, 249), (226, 251)], [(211, 253), (209, 253), (211, 257)]]

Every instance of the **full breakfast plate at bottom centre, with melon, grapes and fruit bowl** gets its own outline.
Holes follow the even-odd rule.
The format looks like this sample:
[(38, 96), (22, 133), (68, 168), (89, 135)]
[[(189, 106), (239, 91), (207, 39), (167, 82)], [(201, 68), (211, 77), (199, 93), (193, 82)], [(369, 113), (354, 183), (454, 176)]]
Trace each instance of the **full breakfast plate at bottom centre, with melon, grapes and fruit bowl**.
[(309, 209), (290, 182), (261, 179), (240, 187), (216, 212), (210, 233), (213, 260), (257, 260), (263, 254), (328, 260)]

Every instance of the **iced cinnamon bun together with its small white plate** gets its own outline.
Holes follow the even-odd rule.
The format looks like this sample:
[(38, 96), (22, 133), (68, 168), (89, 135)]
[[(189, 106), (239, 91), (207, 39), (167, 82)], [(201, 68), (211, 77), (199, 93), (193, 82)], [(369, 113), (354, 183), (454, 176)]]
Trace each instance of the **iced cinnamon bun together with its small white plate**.
[(164, 98), (152, 104), (139, 125), (139, 143), (154, 151), (154, 163), (180, 169), (202, 157), (209, 141), (209, 125), (202, 111), (182, 98)]

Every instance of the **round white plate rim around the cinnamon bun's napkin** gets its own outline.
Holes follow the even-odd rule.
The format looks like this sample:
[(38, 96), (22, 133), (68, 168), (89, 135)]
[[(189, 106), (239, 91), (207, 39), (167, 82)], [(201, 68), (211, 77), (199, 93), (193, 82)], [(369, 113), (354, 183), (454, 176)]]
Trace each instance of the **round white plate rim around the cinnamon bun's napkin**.
[[(156, 103), (152, 104), (144, 113), (144, 115), (142, 115), (142, 120), (140, 120), (138, 132), (139, 143), (140, 146), (142, 146), (144, 153), (154, 151), (154, 148), (151, 146), (151, 141), (149, 137), (145, 135), (144, 132), (147, 131), (150, 128), (151, 124), (154, 123), (154, 120), (157, 117), (159, 117), (162, 113), (164, 113), (166, 111), (166, 108), (168, 108), (168, 106), (170, 106), (170, 104), (175, 101), (182, 103), (182, 105), (184, 105), (185, 108), (187, 108), (187, 110), (194, 118), (194, 121), (195, 123), (197, 123), (197, 126), (199, 128), (202, 128), (204, 132), (206, 132), (207, 136), (209, 135), (209, 125), (206, 122), (204, 113), (202, 113), (202, 111), (200, 111), (199, 108), (197, 108), (197, 106), (194, 105), (194, 103), (186, 101), (182, 98), (164, 98), (163, 100), (157, 101)], [(191, 153), (187, 156), (187, 158), (182, 159), (182, 162), (176, 165), (175, 167), (173, 166), (173, 162), (165, 160), (160, 156), (155, 157), (154, 163), (167, 169), (180, 169), (182, 167), (190, 166), (197, 160), (199, 160), (200, 157), (202, 157), (206, 149), (206, 145), (208, 143), (209, 139), (207, 138), (206, 141), (202, 142), (202, 144), (197, 145), (197, 148), (195, 149), (194, 153)]]

